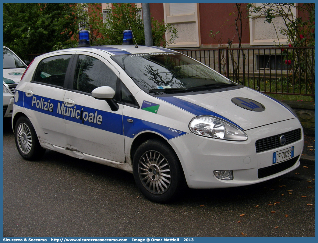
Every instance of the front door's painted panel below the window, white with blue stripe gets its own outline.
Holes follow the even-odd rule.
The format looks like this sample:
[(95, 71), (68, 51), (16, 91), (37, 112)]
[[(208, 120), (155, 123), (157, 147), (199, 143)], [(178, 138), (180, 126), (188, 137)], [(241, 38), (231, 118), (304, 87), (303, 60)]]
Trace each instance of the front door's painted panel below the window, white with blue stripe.
[(72, 110), (64, 116), (67, 144), (88, 155), (125, 163), (123, 105), (111, 111), (106, 101), (72, 91), (66, 91), (65, 99), (75, 103), (64, 107)]

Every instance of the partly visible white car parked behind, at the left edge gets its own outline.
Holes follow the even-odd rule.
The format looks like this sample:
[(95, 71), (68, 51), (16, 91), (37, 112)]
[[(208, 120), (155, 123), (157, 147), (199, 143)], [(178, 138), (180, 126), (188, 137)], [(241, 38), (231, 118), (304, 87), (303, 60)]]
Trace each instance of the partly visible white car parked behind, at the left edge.
[(3, 46), (3, 117), (12, 115), (14, 91), (25, 68), (25, 63), (15, 53)]

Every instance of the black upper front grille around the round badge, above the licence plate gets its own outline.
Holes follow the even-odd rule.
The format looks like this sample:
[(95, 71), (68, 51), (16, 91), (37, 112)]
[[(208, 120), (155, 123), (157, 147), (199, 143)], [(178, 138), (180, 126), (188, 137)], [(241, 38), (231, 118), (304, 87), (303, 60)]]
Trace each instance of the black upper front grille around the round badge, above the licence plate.
[[(286, 142), (284, 145), (280, 144), (280, 136), (285, 135), (286, 137)], [(275, 149), (278, 147), (285, 146), (287, 144), (290, 144), (292, 142), (298, 141), (301, 139), (301, 129), (298, 128), (296, 130), (282, 133), (279, 135), (271, 136), (271, 137), (266, 137), (259, 139), (255, 142), (255, 147), (256, 147), (256, 153), (267, 151), (270, 149)]]

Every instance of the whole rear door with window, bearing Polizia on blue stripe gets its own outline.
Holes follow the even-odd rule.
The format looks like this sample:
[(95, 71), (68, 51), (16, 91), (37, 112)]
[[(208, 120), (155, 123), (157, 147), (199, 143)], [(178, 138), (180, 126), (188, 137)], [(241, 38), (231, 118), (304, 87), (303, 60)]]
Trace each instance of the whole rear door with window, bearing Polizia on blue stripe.
[[(75, 52), (74, 52), (75, 53)], [(72, 53), (41, 60), (31, 82), (24, 88), (24, 107), (38, 129), (39, 139), (59, 147), (67, 147), (63, 105)]]

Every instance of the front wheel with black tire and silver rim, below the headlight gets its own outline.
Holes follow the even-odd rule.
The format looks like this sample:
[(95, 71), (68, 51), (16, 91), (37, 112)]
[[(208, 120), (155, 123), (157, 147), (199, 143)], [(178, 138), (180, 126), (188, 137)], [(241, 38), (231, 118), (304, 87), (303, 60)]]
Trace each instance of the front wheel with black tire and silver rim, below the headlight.
[(133, 159), (133, 174), (142, 193), (157, 203), (174, 200), (185, 184), (176, 153), (157, 139), (150, 139), (138, 147)]

